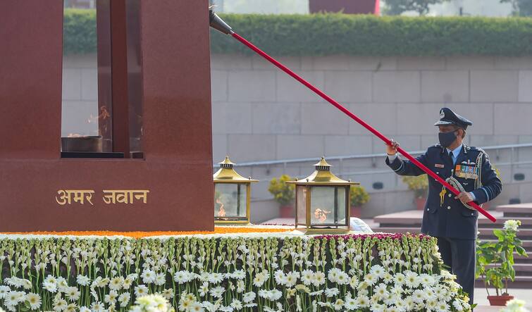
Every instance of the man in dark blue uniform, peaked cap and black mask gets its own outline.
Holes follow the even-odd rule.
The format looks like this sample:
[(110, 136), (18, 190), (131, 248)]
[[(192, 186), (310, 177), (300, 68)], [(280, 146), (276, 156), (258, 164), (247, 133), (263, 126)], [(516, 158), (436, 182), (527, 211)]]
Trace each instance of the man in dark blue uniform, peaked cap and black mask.
[[(502, 184), (491, 167), (488, 154), (463, 143), (467, 126), (473, 125), (471, 121), (445, 107), (434, 125), (440, 130), (440, 144), (429, 147), (416, 159), (460, 194), (454, 196), (433, 177), (428, 177), (421, 232), (438, 238), (443, 263), (457, 275), (457, 282), (473, 304), (478, 211), (467, 203), (483, 204), (494, 199), (500, 194)], [(398, 175), (423, 175), (423, 170), (414, 163), (397, 156), (397, 146), (399, 143), (394, 140), (387, 145), (386, 164)]]

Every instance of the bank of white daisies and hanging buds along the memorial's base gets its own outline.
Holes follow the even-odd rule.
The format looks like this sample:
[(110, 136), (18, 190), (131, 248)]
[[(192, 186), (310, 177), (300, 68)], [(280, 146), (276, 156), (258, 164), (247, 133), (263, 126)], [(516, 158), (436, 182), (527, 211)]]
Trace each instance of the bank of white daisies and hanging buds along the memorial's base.
[(0, 236), (6, 311), (469, 311), (424, 235)]

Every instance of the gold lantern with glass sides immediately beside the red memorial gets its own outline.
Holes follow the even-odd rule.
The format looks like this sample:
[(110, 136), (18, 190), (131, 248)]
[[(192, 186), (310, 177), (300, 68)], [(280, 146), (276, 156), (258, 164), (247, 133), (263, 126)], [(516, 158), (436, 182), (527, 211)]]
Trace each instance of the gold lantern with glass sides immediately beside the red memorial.
[(214, 223), (248, 224), (251, 184), (259, 182), (245, 178), (233, 169), (234, 163), (225, 156), (214, 173)]

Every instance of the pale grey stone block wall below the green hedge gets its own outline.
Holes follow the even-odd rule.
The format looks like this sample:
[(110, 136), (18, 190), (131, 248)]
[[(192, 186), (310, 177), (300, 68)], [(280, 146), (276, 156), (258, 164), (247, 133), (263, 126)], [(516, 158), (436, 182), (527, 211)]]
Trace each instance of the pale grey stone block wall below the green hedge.
[[(67, 56), (63, 68), (63, 135), (69, 127), (92, 131), (87, 116), (97, 113), (94, 56)], [(290, 57), (289, 68), (344, 104), (408, 151), (437, 142), (433, 126), (448, 106), (469, 118), (466, 143), (472, 146), (532, 142), (532, 57)], [(236, 163), (384, 153), (380, 139), (258, 56), (211, 56), (214, 163), (230, 155)], [(163, 78), (161, 78), (163, 79)], [(68, 130), (70, 131), (70, 130)], [(67, 131), (67, 132), (68, 132)], [(68, 134), (68, 133), (67, 133)], [(494, 204), (532, 201), (532, 167), (510, 170), (509, 151), (490, 153), (505, 190)], [(519, 149), (514, 161), (532, 160)], [(271, 177), (309, 175), (313, 162), (298, 166), (238, 168), (261, 180), (253, 187), (261, 209), (268, 206)], [(412, 208), (412, 193), (383, 158), (331, 163), (333, 171), (357, 180), (371, 192), (366, 216)], [(377, 173), (373, 173), (373, 171)], [(385, 173), (379, 173), (386, 171)], [(346, 173), (360, 173), (348, 175)], [(525, 173), (521, 184), (512, 173)], [(384, 188), (372, 188), (383, 182)], [(275, 208), (273, 202), (269, 202)], [(262, 213), (269, 216), (268, 213)]]

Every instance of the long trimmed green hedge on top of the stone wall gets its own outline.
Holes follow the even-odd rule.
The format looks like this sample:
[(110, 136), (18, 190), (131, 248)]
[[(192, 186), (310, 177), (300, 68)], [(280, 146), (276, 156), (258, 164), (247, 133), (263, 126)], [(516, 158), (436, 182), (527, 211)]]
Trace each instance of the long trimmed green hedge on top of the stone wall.
[[(66, 11), (66, 54), (95, 51), (94, 18), (94, 11)], [(342, 14), (222, 14), (221, 18), (235, 32), (274, 56), (532, 55), (532, 18)], [(216, 54), (252, 53), (236, 40), (214, 30), (211, 51)]]

